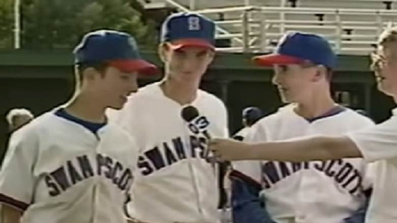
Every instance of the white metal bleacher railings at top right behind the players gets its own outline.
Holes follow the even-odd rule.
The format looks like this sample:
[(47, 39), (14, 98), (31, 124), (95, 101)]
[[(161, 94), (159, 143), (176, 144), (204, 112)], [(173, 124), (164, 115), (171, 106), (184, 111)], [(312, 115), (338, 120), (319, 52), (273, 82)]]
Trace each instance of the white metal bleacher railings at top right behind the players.
[(391, 9), (261, 7), (246, 0), (243, 6), (193, 10), (194, 1), (190, 8), (177, 0), (164, 2), (213, 19), (216, 38), (230, 40), (230, 46), (217, 48), (226, 52), (271, 51), (286, 31), (302, 31), (324, 36), (338, 53), (368, 54), (385, 27), (397, 24), (397, 10)]

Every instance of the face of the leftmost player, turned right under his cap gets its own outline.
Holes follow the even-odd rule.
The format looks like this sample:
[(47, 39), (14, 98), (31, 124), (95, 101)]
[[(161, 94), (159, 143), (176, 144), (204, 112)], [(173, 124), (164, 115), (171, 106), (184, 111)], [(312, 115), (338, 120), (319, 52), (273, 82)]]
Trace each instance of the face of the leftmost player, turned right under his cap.
[(84, 72), (87, 90), (104, 107), (121, 109), (127, 102), (127, 97), (138, 90), (136, 72), (124, 73), (115, 67), (107, 67), (103, 73), (94, 68), (87, 68)]

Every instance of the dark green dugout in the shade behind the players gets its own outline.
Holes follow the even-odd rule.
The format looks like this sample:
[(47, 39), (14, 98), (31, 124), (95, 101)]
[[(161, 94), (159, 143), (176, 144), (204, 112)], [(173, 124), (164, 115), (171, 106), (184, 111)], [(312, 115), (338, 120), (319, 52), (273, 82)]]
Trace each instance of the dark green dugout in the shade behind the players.
[[(202, 82), (202, 88), (220, 97), (228, 107), (230, 130), (241, 127), (241, 110), (261, 107), (266, 114), (280, 105), (276, 88), (271, 84), (271, 69), (254, 66), (250, 53), (218, 53)], [(160, 65), (156, 52), (143, 57)], [(332, 80), (336, 100), (352, 108), (365, 109), (376, 122), (390, 116), (392, 99), (377, 91), (369, 58), (339, 55)], [(5, 115), (13, 107), (26, 107), (37, 116), (65, 102), (72, 94), (73, 55), (70, 50), (1, 50), (0, 51), (0, 151), (7, 134)], [(158, 80), (161, 75), (139, 80), (140, 85)]]

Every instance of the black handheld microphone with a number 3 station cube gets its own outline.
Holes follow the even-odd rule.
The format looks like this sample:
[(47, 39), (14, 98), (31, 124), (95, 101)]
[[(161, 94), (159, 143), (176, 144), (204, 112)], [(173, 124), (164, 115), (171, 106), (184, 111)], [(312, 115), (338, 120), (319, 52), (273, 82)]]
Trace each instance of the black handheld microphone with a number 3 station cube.
[[(200, 114), (198, 113), (196, 107), (192, 105), (184, 107), (181, 111), (181, 116), (182, 119), (188, 123), (188, 127), (191, 132), (193, 132), (194, 134), (202, 133), (207, 138), (207, 140), (210, 140), (212, 138), (210, 133), (207, 131), (210, 122), (207, 120), (206, 117), (204, 116), (200, 117)], [(210, 150), (207, 148), (207, 150), (204, 153), (204, 157), (206, 159), (209, 158), (208, 157), (209, 153)]]

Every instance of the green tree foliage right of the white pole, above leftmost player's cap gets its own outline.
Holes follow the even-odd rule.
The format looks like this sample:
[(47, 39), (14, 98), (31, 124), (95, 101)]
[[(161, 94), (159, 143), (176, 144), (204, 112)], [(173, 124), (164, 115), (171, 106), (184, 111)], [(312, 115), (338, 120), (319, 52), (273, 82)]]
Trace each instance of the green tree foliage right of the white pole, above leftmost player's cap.
[[(3, 0), (2, 0), (3, 1)], [(141, 48), (154, 48), (157, 33), (131, 0), (22, 0), (23, 48), (72, 48), (98, 29), (132, 34)]]

